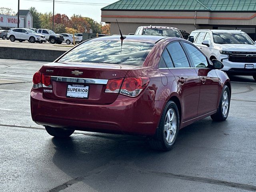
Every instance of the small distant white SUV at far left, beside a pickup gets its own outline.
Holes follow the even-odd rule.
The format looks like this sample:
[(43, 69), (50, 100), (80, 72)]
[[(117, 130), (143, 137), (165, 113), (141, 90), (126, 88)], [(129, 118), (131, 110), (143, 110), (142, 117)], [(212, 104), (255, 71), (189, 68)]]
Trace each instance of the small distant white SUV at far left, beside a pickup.
[(28, 40), (30, 43), (38, 42), (46, 42), (45, 36), (42, 34), (37, 34), (31, 29), (26, 28), (14, 28), (10, 29), (7, 34), (7, 38), (10, 39), (10, 41), (14, 42), (15, 40), (18, 40), (19, 42), (23, 42)]

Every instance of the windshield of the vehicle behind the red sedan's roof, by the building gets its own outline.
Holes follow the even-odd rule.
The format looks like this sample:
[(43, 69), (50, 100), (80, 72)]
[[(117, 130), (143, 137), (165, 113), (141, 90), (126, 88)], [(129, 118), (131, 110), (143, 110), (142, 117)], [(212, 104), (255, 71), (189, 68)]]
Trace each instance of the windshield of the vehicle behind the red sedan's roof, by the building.
[(166, 37), (178, 37), (182, 38), (180, 36), (180, 33), (176, 29), (143, 29), (143, 35), (153, 35), (153, 36), (166, 36)]

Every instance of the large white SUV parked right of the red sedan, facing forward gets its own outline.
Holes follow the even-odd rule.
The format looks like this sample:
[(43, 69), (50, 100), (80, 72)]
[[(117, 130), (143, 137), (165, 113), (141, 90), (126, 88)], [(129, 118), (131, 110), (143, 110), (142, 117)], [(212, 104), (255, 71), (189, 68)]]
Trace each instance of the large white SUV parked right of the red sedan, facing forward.
[(195, 30), (188, 37), (210, 60), (223, 62), (230, 75), (253, 76), (256, 80), (256, 44), (240, 30)]

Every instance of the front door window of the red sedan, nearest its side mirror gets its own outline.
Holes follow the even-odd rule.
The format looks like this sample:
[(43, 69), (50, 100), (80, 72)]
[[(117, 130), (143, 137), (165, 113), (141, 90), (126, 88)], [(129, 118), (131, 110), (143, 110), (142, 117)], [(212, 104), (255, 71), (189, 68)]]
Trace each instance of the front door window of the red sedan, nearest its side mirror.
[(196, 68), (206, 68), (208, 66), (206, 57), (197, 48), (186, 42), (183, 42), (183, 44)]

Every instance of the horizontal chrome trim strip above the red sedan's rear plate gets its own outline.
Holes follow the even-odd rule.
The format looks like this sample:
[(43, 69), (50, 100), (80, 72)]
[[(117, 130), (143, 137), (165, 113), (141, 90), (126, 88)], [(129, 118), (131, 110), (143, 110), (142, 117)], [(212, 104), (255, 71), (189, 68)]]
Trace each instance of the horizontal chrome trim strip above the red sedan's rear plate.
[(108, 83), (107, 79), (90, 79), (90, 78), (75, 78), (75, 77), (58, 77), (51, 76), (53, 81), (71, 82), (71, 83), (88, 83), (88, 84), (104, 84)]

